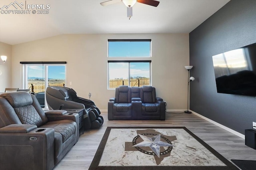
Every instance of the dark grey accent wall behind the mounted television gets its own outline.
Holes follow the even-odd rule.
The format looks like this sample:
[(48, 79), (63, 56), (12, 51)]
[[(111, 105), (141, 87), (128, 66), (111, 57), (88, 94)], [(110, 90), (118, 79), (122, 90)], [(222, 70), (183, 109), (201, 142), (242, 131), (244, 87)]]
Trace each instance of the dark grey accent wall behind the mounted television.
[(256, 43), (256, 0), (231, 0), (189, 38), (190, 109), (244, 134), (256, 122), (256, 97), (217, 93), (212, 56)]

